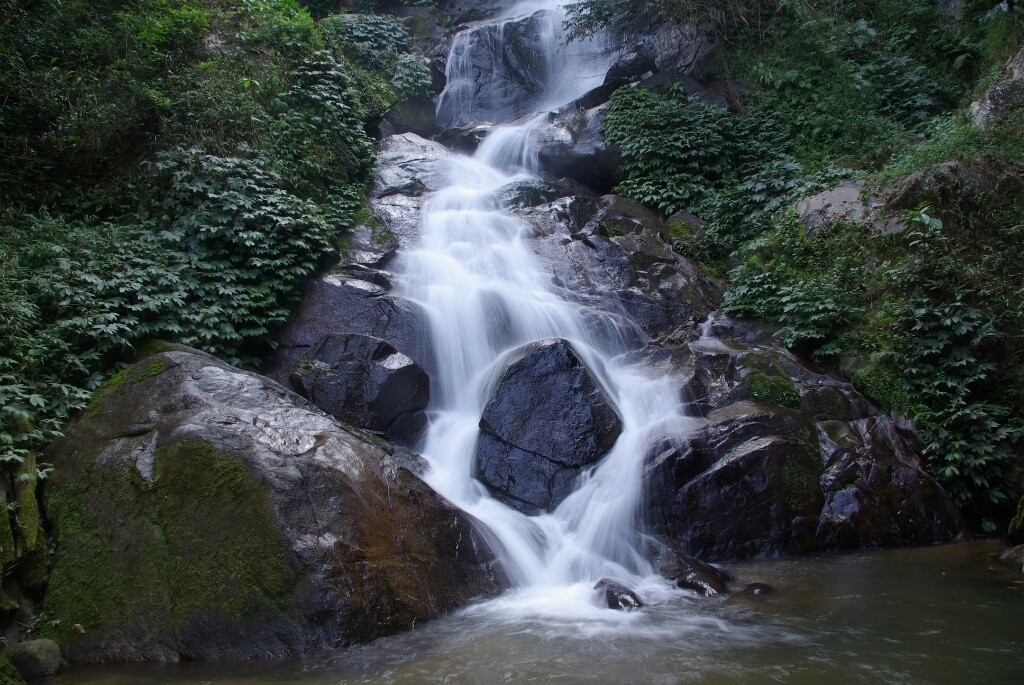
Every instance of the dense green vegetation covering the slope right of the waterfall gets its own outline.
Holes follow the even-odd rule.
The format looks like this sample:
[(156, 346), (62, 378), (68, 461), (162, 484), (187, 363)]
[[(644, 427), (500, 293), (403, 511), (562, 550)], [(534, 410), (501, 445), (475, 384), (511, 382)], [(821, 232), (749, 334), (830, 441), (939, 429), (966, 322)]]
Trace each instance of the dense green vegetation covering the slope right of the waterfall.
[[(605, 136), (623, 148), (620, 191), (706, 220), (670, 221), (668, 237), (727, 280), (726, 310), (911, 418), (933, 473), (989, 528), (1020, 495), (1024, 454), (1024, 201), (983, 180), (1024, 173), (1024, 114), (982, 128), (968, 109), (1024, 38), (1024, 12), (994, 4), (956, 19), (926, 0), (590, 0), (571, 22), (625, 35), (658, 12), (714, 23), (718, 78), (749, 90), (731, 113), (678, 84), (617, 91)], [(956, 182), (981, 180), (904, 181), (947, 162)], [(844, 179), (883, 197), (916, 187), (896, 208), (908, 227), (808, 231), (794, 203)]]

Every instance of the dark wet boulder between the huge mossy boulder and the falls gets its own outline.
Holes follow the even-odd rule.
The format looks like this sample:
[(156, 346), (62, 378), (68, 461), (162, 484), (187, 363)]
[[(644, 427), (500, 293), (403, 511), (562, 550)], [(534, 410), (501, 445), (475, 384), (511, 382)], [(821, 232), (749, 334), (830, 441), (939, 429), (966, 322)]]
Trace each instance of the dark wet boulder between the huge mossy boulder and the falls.
[(371, 336), (327, 336), (289, 374), (292, 389), (331, 416), (412, 444), (427, 424), (430, 379), (423, 368)]

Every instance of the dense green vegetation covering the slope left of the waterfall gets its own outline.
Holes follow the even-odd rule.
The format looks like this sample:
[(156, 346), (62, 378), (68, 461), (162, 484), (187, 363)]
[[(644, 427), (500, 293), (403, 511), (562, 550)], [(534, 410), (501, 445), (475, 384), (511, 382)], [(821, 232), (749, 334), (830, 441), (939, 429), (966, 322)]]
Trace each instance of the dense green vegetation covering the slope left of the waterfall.
[(367, 126), (429, 87), (411, 48), (294, 0), (0, 4), (5, 568), (41, 539), (39, 447), (114, 365), (156, 338), (265, 352), (362, 211)]

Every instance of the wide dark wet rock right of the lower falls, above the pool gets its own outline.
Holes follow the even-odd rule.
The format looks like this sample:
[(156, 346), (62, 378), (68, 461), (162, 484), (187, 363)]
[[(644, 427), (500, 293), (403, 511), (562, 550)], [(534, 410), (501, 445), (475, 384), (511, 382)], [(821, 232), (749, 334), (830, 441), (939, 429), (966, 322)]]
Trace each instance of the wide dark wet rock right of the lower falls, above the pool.
[(849, 384), (788, 353), (677, 352), (707, 423), (646, 463), (647, 529), (700, 559), (944, 542), (966, 532), (911, 443)]

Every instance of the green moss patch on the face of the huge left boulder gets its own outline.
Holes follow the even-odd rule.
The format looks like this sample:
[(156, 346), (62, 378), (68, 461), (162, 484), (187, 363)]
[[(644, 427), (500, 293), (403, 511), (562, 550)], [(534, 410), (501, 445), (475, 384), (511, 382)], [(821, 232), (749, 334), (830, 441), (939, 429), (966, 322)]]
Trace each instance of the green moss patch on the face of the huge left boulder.
[(287, 611), (296, 573), (265, 486), (203, 441), (162, 445), (147, 481), (134, 465), (92, 466), (53, 487), (56, 560), (47, 637), (244, 628)]

